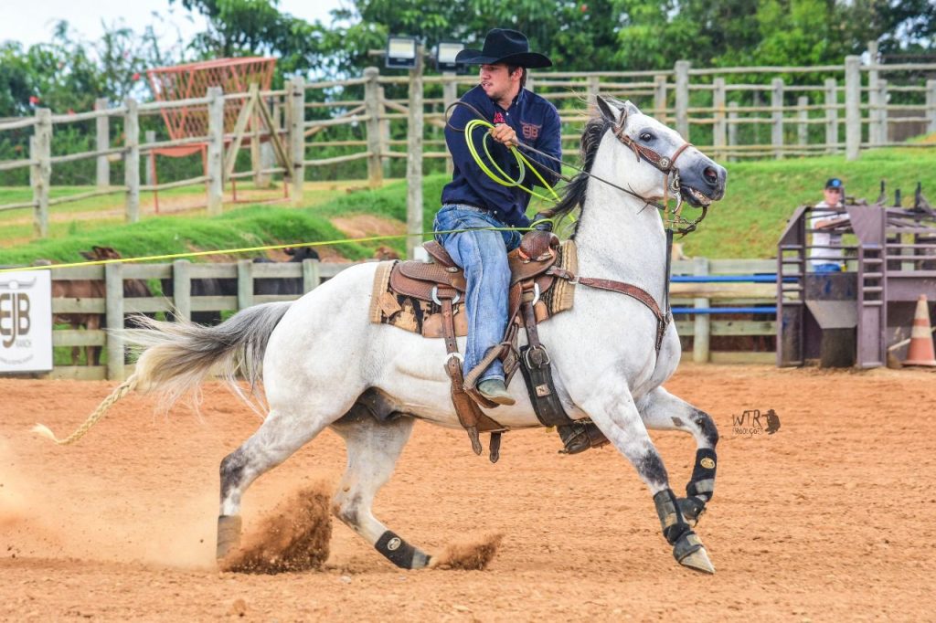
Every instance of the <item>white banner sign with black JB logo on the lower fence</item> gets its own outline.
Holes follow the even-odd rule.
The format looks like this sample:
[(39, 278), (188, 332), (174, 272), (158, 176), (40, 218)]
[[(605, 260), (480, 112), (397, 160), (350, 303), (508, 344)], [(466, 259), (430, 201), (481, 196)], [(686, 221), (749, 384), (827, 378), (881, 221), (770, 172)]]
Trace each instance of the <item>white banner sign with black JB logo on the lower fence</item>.
[(49, 270), (0, 273), (0, 372), (52, 369)]

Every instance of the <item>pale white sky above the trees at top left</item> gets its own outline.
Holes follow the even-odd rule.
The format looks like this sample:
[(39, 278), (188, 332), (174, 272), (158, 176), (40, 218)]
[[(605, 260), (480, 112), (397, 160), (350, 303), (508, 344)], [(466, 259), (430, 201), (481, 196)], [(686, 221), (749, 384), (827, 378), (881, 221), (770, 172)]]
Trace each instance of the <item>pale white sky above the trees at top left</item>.
[[(279, 8), (307, 22), (329, 25), (329, 11), (347, 4), (348, 0), (280, 0)], [(59, 20), (69, 22), (84, 38), (97, 38), (104, 32), (102, 20), (113, 24), (121, 19), (138, 33), (156, 25), (167, 45), (175, 42), (177, 29), (187, 41), (204, 23), (178, 1), (170, 7), (168, 0), (0, 0), (0, 41), (20, 41), (23, 47), (48, 43)]]

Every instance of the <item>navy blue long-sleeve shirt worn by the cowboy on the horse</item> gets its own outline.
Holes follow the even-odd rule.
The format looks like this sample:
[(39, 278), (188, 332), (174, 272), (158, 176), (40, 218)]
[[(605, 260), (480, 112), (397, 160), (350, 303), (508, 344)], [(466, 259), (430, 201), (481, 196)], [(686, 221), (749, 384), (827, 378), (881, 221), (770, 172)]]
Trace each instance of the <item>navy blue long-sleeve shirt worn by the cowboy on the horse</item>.
[[(517, 132), (517, 139), (521, 143), (529, 145), (540, 152), (548, 153), (555, 158), (563, 157), (559, 112), (555, 106), (539, 95), (526, 89), (520, 89), (519, 94), (510, 104), (510, 108), (505, 110), (490, 99), (480, 86), (476, 86), (464, 94), (461, 101), (478, 109), (484, 115), (485, 121), (510, 125)], [(457, 106), (453, 109), (449, 123), (461, 130), (466, 123), (475, 118), (473, 111), (463, 106)], [(484, 159), (487, 159), (487, 155), (482, 141), (486, 133), (487, 128), (485, 127), (478, 127), (472, 133), (476, 151)], [(527, 206), (530, 204), (529, 193), (491, 180), (475, 163), (474, 157), (468, 151), (465, 136), (463, 132), (456, 132), (450, 127), (446, 127), (446, 144), (448, 145), (448, 151), (452, 154), (455, 170), (452, 181), (448, 182), (442, 191), (442, 203), (468, 204), (476, 208), (490, 210), (495, 218), (506, 225), (515, 227), (529, 226), (530, 221), (525, 214)], [(511, 179), (516, 180), (519, 176), (519, 166), (513, 154), (493, 138), (488, 138), (487, 142), (490, 155), (498, 166)], [(519, 148), (519, 152), (527, 160), (534, 163), (540, 175), (550, 184), (558, 180), (556, 175), (560, 172), (558, 162), (544, 158), (538, 153), (525, 152), (522, 148)], [(496, 172), (496, 169), (491, 167), (490, 163), (486, 164)], [(533, 184), (539, 183), (534, 173), (527, 170), (523, 185), (530, 188)]]

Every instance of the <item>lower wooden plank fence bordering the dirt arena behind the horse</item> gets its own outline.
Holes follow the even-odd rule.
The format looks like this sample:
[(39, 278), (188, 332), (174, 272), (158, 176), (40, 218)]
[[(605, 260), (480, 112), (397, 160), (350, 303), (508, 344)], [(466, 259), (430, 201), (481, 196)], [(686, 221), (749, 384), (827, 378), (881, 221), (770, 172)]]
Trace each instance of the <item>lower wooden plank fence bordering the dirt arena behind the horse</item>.
[[(119, 334), (107, 329), (123, 328), (126, 314), (169, 312), (174, 310), (188, 318), (192, 312), (233, 312), (252, 305), (281, 300), (292, 300), (297, 296), (255, 296), (254, 280), (291, 278), (302, 280), (303, 292), (313, 290), (319, 283), (334, 277), (353, 264), (327, 264), (317, 260), (300, 263), (255, 264), (241, 260), (229, 264), (193, 264), (179, 260), (171, 264), (110, 264), (95, 267), (58, 268), (52, 272), (53, 281), (103, 280), (106, 296), (103, 298), (52, 299), (52, 312), (96, 313), (104, 316), (97, 330), (56, 329), (52, 332), (54, 347), (100, 346), (107, 353), (107, 363), (102, 366), (55, 366), (52, 378), (69, 379), (123, 379), (132, 370), (124, 365), (124, 341)], [(749, 275), (771, 273), (776, 270), (774, 260), (707, 260), (695, 258), (691, 261), (674, 262), (675, 275)], [(172, 280), (174, 297), (124, 297), (124, 280)], [(190, 283), (194, 279), (236, 279), (237, 294), (232, 296), (194, 297)], [(673, 306), (686, 305), (709, 307), (717, 305), (772, 305), (776, 302), (776, 285), (772, 283), (674, 283)], [(363, 313), (363, 310), (362, 310)], [(686, 320), (676, 317), (680, 337), (693, 338), (693, 358), (697, 362), (715, 363), (770, 363), (775, 359), (774, 351), (719, 352), (709, 351), (712, 336), (769, 337), (776, 335), (773, 320), (750, 319), (712, 320), (708, 314), (695, 315)], [(440, 346), (441, 347), (441, 346)]]

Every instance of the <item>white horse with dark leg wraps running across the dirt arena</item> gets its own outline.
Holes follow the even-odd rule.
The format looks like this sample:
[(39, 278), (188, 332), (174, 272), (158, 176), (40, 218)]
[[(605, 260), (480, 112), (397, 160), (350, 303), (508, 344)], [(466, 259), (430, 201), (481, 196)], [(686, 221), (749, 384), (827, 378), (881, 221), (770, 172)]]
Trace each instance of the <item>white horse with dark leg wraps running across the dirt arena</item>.
[[(664, 224), (644, 199), (666, 196), (665, 185), (678, 172), (681, 195), (696, 207), (708, 205), (724, 196), (726, 173), (629, 102), (598, 103), (602, 116), (589, 123), (582, 152), (585, 170), (600, 180), (579, 175), (558, 211), (581, 207), (575, 236), (581, 275), (632, 283), (662, 306)], [(669, 176), (661, 172), (666, 166)], [(76, 434), (133, 389), (178, 398), (219, 369), (232, 384), (237, 373), (252, 386), (262, 379), (269, 414), (221, 462), (218, 558), (238, 546), (241, 496), (247, 487), (331, 427), (347, 444), (334, 514), (398, 566), (430, 566), (431, 556), (374, 517), (373, 498), (388, 481), (416, 418), (445, 427), (460, 424), (441, 341), (369, 322), (375, 270), (375, 264), (348, 268), (295, 302), (257, 305), (220, 326), (142, 319), (149, 328), (136, 332), (136, 338), (147, 349), (136, 373)], [(636, 468), (677, 560), (714, 572), (690, 523), (695, 526), (711, 498), (718, 433), (708, 414), (663, 388), (679, 364), (680, 340), (670, 323), (657, 349), (657, 329), (654, 315), (635, 298), (579, 285), (573, 309), (540, 325), (539, 334), (549, 349), (566, 413), (591, 418)], [(463, 339), (460, 347), (463, 351)], [(398, 416), (378, 421), (358, 410), (349, 413), (369, 388), (388, 396)], [(508, 428), (541, 426), (524, 385), (515, 381), (509, 389), (516, 405), (501, 406), (492, 416)], [(695, 470), (685, 498), (670, 489), (648, 427), (695, 437)]]

